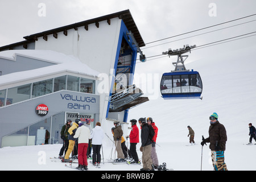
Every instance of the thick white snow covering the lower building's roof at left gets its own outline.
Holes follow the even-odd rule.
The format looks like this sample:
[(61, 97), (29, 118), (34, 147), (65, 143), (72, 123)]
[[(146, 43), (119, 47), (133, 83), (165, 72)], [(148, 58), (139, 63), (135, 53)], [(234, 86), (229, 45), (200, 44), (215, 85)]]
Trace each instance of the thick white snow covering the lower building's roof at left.
[(15, 72), (0, 77), (0, 86), (31, 80), (33, 78), (40, 78), (49, 75), (54, 75), (61, 72), (71, 72), (90, 77), (97, 77), (100, 72), (90, 68), (88, 65), (82, 63), (77, 57), (73, 55), (65, 55), (64, 53), (50, 51), (50, 50), (10, 50), (0, 52), (0, 57), (8, 60), (16, 61), (16, 56), (30, 57), (37, 60), (48, 61), (49, 63), (56, 63), (48, 67), (32, 69), (28, 71)]

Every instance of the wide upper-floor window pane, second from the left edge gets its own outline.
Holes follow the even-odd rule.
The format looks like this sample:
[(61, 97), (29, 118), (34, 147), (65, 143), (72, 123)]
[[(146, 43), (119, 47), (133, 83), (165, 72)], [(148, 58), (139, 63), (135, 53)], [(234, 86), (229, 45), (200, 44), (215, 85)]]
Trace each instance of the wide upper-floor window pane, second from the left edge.
[(30, 99), (31, 84), (8, 89), (6, 105)]

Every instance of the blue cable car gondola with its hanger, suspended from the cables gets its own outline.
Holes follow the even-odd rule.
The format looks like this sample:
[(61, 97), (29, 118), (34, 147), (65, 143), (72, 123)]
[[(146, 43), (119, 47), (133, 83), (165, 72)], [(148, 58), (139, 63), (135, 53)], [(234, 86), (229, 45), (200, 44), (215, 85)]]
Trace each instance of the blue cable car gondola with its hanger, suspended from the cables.
[(160, 82), (160, 92), (164, 100), (181, 98), (200, 98), (203, 91), (203, 84), (199, 72), (185, 69), (184, 59), (187, 55), (183, 53), (190, 52), (191, 48), (196, 46), (184, 46), (184, 48), (163, 52), (169, 56), (177, 56), (175, 70), (170, 73), (164, 73)]

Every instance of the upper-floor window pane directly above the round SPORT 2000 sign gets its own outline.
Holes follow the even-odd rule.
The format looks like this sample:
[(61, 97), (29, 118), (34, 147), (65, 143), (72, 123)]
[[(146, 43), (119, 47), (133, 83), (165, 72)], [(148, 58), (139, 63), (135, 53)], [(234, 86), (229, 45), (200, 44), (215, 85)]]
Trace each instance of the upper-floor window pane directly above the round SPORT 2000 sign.
[(52, 79), (34, 82), (32, 86), (32, 98), (52, 93)]

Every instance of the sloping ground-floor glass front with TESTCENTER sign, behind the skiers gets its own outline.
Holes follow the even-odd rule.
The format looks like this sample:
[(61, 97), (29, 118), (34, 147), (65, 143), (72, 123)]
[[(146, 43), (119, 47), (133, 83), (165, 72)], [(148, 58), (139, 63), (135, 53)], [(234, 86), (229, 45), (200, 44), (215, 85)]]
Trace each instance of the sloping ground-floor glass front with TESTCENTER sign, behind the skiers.
[(88, 119), (90, 121), (90, 127), (95, 127), (94, 114), (61, 112), (15, 133), (6, 135), (2, 138), (1, 147), (63, 143), (63, 140), (60, 138), (60, 131), (66, 123), (65, 119), (71, 119), (72, 122), (75, 122), (77, 117), (82, 122)]

